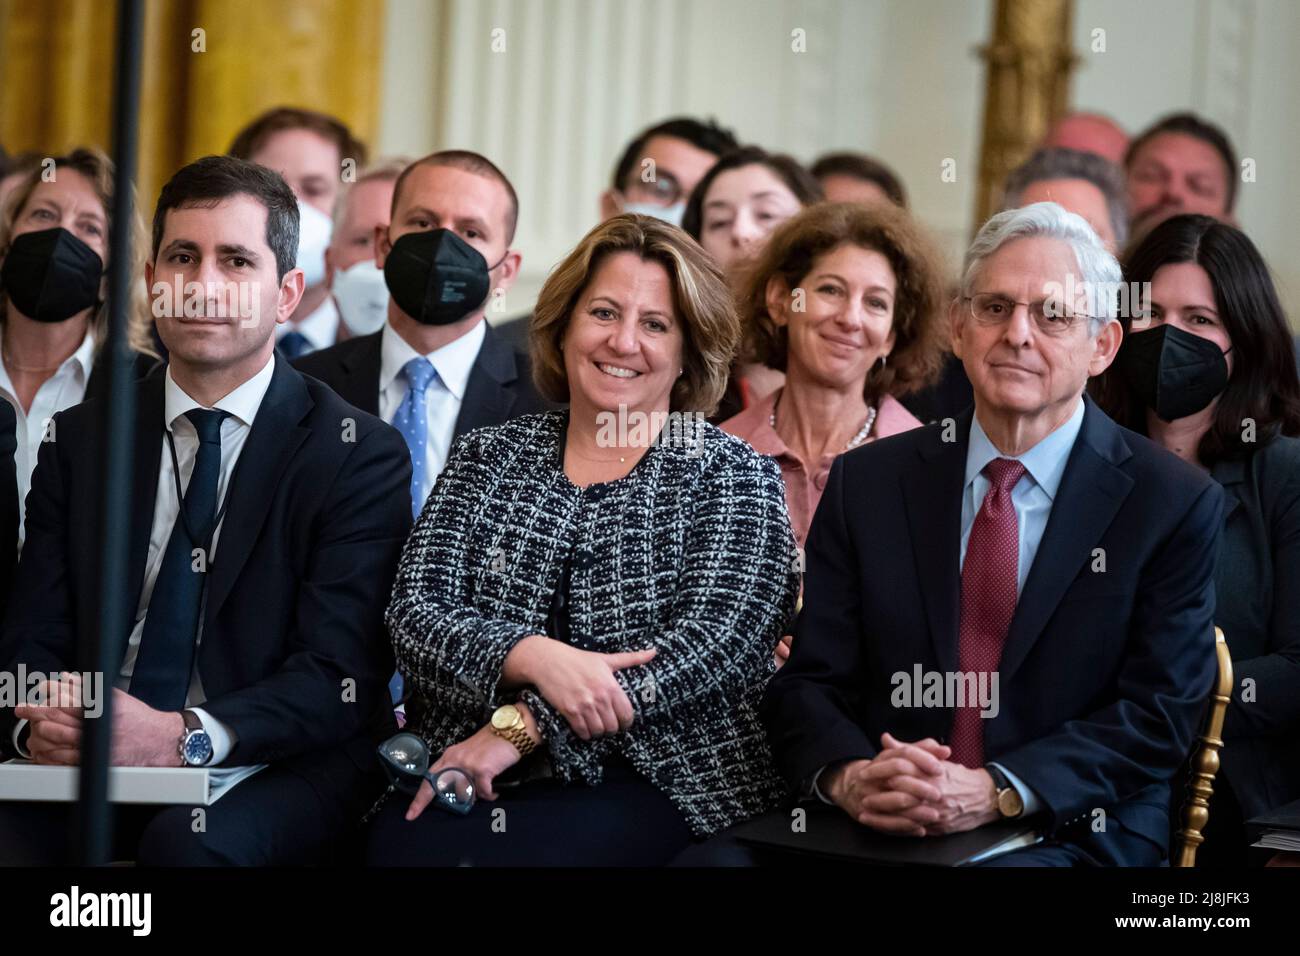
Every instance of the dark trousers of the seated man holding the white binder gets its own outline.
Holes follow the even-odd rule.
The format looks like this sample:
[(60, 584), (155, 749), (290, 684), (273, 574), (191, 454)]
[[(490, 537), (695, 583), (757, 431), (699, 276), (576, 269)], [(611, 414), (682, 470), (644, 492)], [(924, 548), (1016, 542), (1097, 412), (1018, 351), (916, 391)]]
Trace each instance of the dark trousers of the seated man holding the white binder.
[[(269, 766), (211, 806), (114, 809), (114, 861), (142, 866), (292, 866), (346, 862), (359, 853), (360, 819), (384, 790), (384, 773), (359, 770), (342, 750), (315, 771)], [(330, 786), (322, 786), (328, 777)], [(0, 865), (75, 862), (73, 804), (0, 803)]]

